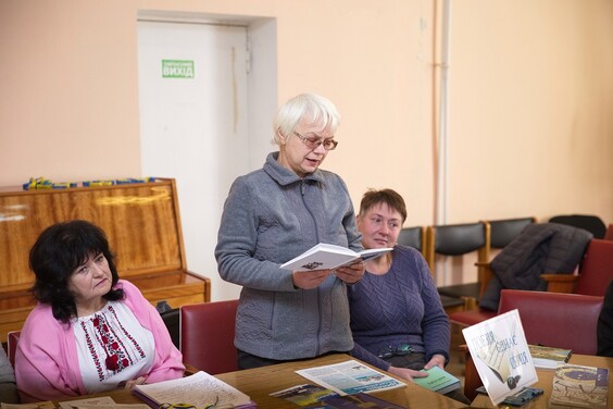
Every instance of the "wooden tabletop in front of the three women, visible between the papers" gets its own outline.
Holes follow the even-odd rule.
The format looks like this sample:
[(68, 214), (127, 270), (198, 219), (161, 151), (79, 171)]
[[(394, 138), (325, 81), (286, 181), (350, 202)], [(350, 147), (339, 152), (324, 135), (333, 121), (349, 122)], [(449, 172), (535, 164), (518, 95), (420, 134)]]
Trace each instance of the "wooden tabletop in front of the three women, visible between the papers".
[[(296, 404), (271, 397), (268, 394), (291, 386), (312, 383), (293, 372), (298, 369), (338, 363), (350, 359), (352, 358), (348, 355), (337, 354), (306, 361), (280, 363), (271, 367), (228, 372), (215, 376), (249, 395), (251, 399), (258, 404), (258, 409), (297, 409), (300, 407)], [(129, 391), (114, 391), (105, 394), (79, 396), (75, 399), (99, 396), (110, 396), (117, 404), (142, 404), (142, 401), (132, 395)], [(465, 407), (453, 399), (449, 399), (412, 383), (409, 383), (405, 388), (377, 392), (373, 393), (373, 396), (401, 405), (404, 408), (453, 409)]]

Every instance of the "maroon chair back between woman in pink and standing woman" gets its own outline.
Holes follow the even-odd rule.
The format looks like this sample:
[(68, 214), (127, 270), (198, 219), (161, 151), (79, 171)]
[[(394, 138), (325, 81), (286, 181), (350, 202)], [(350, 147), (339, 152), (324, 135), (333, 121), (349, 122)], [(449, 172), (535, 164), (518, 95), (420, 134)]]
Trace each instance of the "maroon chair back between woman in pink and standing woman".
[(238, 300), (202, 302), (180, 307), (183, 360), (212, 375), (237, 371), (234, 346)]

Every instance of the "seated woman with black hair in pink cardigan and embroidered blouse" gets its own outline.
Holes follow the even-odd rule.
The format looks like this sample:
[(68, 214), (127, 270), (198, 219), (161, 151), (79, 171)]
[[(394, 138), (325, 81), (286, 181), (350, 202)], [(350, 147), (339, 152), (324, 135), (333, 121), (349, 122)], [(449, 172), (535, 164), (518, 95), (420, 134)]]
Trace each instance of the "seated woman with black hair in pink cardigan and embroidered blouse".
[(22, 402), (183, 376), (164, 322), (135, 285), (118, 278), (101, 228), (78, 220), (52, 225), (29, 263), (38, 305), (15, 354)]

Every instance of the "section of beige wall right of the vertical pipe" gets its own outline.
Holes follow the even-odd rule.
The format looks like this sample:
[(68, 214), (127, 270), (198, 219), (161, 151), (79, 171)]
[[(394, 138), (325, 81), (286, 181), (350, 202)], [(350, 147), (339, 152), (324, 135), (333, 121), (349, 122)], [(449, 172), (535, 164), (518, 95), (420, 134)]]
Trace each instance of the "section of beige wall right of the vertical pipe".
[(453, 220), (613, 223), (613, 2), (456, 1)]

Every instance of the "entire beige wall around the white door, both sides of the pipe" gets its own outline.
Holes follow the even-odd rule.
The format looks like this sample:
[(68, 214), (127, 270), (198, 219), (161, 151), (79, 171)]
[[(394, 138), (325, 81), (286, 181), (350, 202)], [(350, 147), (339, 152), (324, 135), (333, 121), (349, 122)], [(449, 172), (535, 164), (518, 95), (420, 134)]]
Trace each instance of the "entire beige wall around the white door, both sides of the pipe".
[[(452, 3), (447, 221), (613, 223), (613, 2)], [(0, 186), (139, 176), (138, 10), (271, 16), (278, 100), (312, 90), (341, 112), (324, 168), (355, 205), (392, 187), (406, 225), (435, 223), (441, 4), (0, 0)]]

